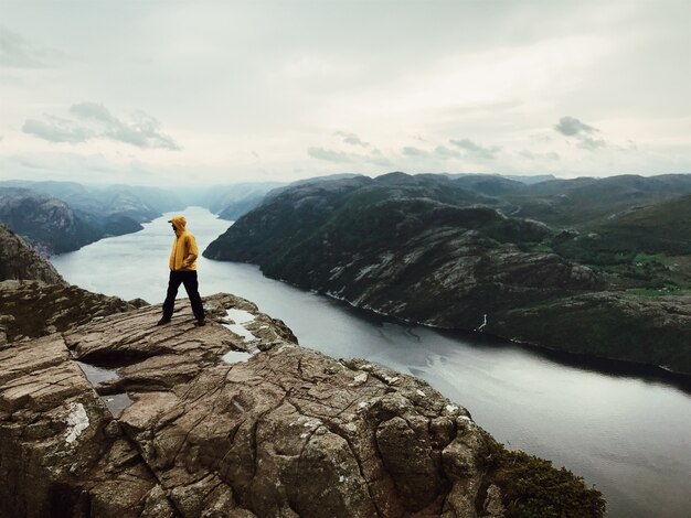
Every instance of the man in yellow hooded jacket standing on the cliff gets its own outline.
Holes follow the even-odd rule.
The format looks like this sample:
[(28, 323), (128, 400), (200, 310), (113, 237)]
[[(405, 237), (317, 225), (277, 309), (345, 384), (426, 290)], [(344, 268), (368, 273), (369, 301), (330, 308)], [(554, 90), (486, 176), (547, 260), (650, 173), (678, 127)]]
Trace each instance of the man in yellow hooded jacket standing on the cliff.
[(199, 296), (199, 282), (196, 280), (196, 257), (199, 256), (196, 240), (192, 233), (185, 228), (187, 220), (184, 216), (173, 216), (168, 223), (172, 225), (176, 240), (170, 252), (170, 278), (168, 280), (166, 302), (163, 302), (163, 316), (157, 325), (170, 322), (180, 284), (184, 284), (184, 290), (188, 292), (192, 303), (192, 311), (196, 319), (194, 325), (204, 325), (204, 306), (202, 305), (201, 296)]

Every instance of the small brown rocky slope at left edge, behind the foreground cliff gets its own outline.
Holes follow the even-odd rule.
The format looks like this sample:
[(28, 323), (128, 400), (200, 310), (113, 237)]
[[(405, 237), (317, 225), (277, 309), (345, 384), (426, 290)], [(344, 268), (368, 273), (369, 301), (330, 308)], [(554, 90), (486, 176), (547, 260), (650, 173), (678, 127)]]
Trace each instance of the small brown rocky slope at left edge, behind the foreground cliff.
[(65, 283), (53, 265), (0, 223), (0, 281), (8, 279)]

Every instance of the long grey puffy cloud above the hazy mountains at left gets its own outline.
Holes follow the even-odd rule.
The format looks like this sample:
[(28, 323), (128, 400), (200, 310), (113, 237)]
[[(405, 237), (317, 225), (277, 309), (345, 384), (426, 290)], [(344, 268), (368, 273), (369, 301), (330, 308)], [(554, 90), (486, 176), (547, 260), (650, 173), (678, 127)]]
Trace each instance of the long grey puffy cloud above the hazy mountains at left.
[(78, 102), (70, 107), (70, 115), (72, 119), (50, 115), (45, 116), (45, 120), (28, 119), (22, 131), (50, 142), (76, 144), (92, 139), (108, 139), (140, 149), (181, 149), (161, 131), (161, 123), (143, 111), (135, 111), (129, 120), (123, 120), (104, 105)]

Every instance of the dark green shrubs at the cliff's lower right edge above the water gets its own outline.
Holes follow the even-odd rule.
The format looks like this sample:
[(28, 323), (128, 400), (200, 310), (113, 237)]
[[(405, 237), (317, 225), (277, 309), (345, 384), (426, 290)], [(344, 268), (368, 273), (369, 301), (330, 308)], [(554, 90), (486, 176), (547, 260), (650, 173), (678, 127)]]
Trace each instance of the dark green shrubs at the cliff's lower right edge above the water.
[(508, 518), (585, 518), (605, 515), (599, 490), (588, 488), (582, 477), (550, 461), (521, 451), (509, 451), (485, 434), (485, 446), (476, 456), (491, 484), (502, 494)]

